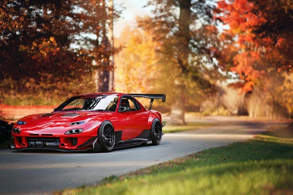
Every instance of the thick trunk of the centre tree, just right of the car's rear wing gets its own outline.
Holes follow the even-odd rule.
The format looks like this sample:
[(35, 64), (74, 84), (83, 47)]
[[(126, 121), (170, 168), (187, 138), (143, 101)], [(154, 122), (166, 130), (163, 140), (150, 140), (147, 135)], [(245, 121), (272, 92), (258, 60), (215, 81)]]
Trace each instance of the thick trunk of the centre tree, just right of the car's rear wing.
[[(179, 0), (180, 15), (179, 15), (179, 31), (177, 33), (178, 64), (183, 75), (188, 74), (188, 55), (189, 55), (189, 40), (190, 40), (190, 15), (191, 15), (191, 0)], [(176, 86), (176, 94), (174, 103), (171, 109), (170, 123), (172, 125), (185, 125), (185, 85), (181, 79), (176, 80), (179, 82)]]

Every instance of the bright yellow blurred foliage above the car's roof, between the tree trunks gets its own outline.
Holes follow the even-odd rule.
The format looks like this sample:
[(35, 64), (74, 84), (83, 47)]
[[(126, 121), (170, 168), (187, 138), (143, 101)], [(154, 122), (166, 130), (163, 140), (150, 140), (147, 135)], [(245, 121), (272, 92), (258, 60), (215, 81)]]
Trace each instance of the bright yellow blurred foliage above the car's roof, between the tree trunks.
[(124, 49), (115, 56), (116, 90), (127, 93), (150, 91), (156, 74), (156, 43), (146, 31), (126, 27), (117, 40)]

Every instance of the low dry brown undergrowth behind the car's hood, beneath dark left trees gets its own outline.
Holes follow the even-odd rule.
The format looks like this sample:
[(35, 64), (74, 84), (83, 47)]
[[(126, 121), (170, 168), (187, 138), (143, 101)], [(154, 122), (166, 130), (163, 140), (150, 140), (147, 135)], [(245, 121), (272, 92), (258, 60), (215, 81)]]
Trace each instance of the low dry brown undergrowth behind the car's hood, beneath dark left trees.
[(48, 80), (3, 79), (0, 82), (0, 103), (7, 105), (59, 105), (74, 95), (95, 91), (95, 83), (90, 75), (71, 80), (55, 80), (53, 82), (48, 82)]

